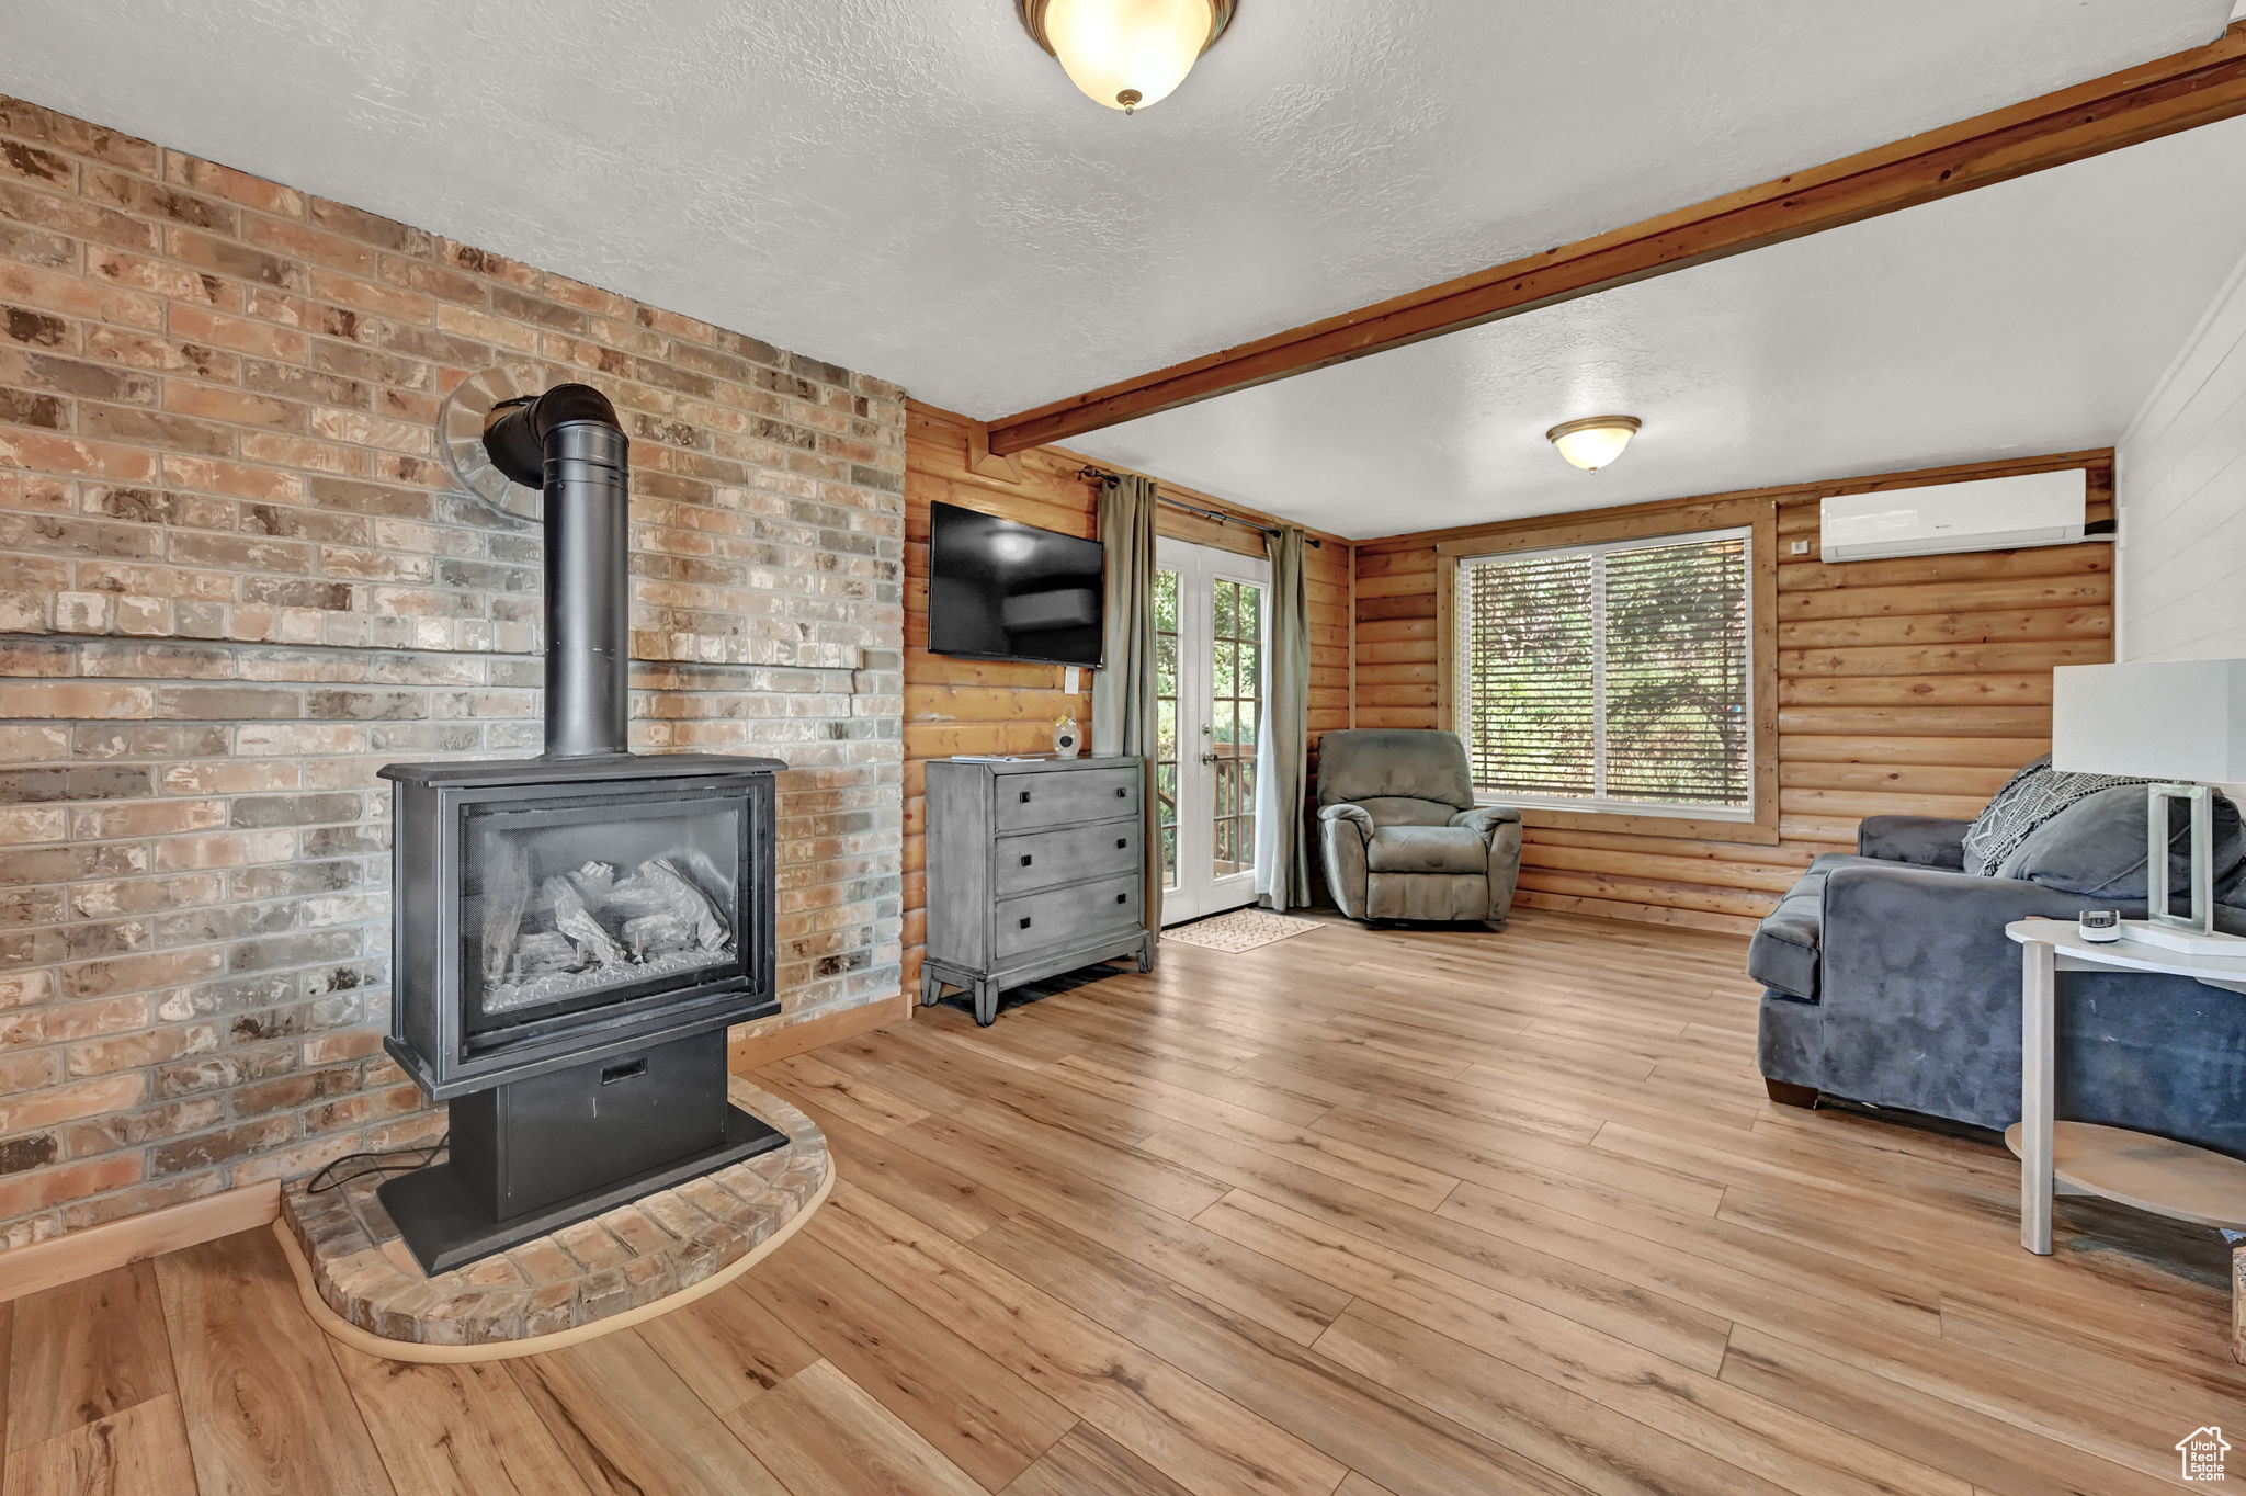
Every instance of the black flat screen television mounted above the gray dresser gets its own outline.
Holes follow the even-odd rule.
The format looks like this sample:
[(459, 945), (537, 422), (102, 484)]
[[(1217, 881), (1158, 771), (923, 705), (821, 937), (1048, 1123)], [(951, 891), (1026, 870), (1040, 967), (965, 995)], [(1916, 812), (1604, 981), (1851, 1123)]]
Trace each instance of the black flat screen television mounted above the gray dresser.
[(973, 660), (1101, 663), (1105, 546), (928, 505), (928, 647)]

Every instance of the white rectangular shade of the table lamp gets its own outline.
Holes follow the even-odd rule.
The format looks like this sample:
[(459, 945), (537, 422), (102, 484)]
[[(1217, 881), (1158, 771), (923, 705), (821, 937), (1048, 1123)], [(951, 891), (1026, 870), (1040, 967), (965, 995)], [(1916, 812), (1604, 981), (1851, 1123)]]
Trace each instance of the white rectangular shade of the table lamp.
[(2246, 779), (2246, 660), (2060, 665), (2051, 766), (2143, 779)]

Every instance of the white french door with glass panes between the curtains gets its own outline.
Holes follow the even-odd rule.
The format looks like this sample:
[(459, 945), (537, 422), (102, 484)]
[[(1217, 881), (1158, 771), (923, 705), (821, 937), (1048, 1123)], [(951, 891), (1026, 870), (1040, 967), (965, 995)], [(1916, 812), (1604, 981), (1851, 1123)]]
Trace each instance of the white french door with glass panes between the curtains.
[(1256, 903), (1256, 744), (1271, 564), (1163, 539), (1154, 550), (1161, 923)]

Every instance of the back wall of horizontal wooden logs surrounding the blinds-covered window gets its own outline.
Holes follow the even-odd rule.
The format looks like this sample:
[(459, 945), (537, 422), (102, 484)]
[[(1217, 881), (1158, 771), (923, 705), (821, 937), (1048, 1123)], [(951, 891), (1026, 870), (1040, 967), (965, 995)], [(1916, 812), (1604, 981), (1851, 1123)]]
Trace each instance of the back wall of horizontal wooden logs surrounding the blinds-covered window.
[[(1826, 564), (1817, 503), (2062, 467), (2087, 469), (2091, 519), (2109, 519), (2107, 449), (1745, 494), (1777, 508), (1779, 555), (1759, 564), (1779, 568), (1779, 845), (1532, 827), (1521, 903), (1747, 932), (1813, 856), (1853, 851), (1864, 815), (1979, 813), (2051, 746), (2051, 669), (2113, 658), (2113, 546)], [(1464, 535), (1359, 544), (1357, 726), (1444, 726), (1435, 546)]]

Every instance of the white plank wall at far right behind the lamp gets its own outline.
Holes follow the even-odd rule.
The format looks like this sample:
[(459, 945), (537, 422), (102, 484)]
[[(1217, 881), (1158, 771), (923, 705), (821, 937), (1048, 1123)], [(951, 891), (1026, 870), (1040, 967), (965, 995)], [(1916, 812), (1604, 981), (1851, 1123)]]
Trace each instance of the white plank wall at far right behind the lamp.
[(2246, 658), (2246, 261), (2116, 456), (2116, 658)]

